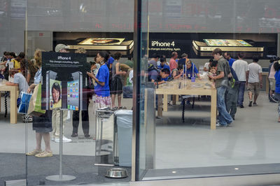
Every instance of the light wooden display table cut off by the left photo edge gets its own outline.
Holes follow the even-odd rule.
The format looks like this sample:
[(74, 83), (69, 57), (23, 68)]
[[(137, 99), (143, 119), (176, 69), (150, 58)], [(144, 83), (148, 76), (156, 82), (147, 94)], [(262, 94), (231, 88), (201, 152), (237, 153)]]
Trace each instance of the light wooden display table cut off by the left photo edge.
[(18, 87), (7, 86), (0, 84), (0, 92), (10, 92), (10, 123), (16, 124), (18, 122), (18, 110), (17, 110), (17, 99), (18, 99)]

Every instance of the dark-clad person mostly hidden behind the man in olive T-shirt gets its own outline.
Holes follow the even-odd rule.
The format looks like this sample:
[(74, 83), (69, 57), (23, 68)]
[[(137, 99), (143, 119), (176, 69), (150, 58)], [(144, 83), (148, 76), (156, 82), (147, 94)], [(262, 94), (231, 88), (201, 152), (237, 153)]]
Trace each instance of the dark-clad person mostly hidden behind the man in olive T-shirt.
[(234, 79), (234, 83), (228, 86), (228, 90), (225, 92), (225, 107), (230, 113), (232, 120), (235, 120), (235, 114), (237, 113), (237, 101), (238, 101), (238, 92), (239, 92), (239, 80), (237, 78), (237, 74), (235, 70), (230, 67), (230, 72), (232, 73), (232, 78)]

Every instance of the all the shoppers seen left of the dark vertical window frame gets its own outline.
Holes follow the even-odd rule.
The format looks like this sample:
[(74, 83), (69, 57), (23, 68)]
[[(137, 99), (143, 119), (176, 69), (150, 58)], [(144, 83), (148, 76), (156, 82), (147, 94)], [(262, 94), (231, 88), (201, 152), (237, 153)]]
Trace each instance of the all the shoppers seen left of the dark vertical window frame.
[[(20, 52), (19, 55), (16, 55), (15, 52), (4, 52), (0, 63), (0, 78), (5, 78), (7, 80), (6, 85), (18, 86), (19, 92), (32, 93), (34, 88), (41, 83), (42, 52), (44, 51), (37, 49), (31, 60), (26, 59), (24, 52)], [(69, 46), (58, 44), (54, 52), (69, 52)], [(78, 48), (75, 52), (86, 53), (83, 48)], [(90, 137), (88, 107), (93, 94), (94, 110), (125, 109), (121, 104), (121, 94), (123, 93), (123, 85), (126, 84), (126, 78), (129, 78), (129, 75), (129, 82), (132, 81), (133, 62), (131, 57), (129, 57), (127, 62), (120, 62), (120, 57), (121, 55), (119, 52), (111, 56), (109, 52), (102, 51), (97, 53), (94, 62), (86, 63), (89, 85), (86, 87), (87, 91), (85, 91), (85, 93), (83, 91), (83, 94), (85, 94), (83, 97), (87, 99), (87, 110), (81, 111), (85, 138)], [(59, 99), (59, 96), (56, 96), (56, 92), (59, 91), (59, 88), (55, 89), (54, 87), (50, 92), (54, 100), (55, 98), (57, 98), (57, 100)], [(116, 95), (118, 95), (118, 107), (115, 106)], [(59, 102), (59, 100), (57, 102)], [(67, 115), (69, 115), (68, 112), (67, 110), (63, 110), (63, 127), (66, 123)], [(73, 110), (73, 131), (71, 135), (73, 138), (78, 136), (79, 115), (79, 111)], [(60, 110), (57, 109), (45, 110), (45, 113), (40, 117), (25, 115), (24, 122), (32, 122), (32, 128), (36, 132), (36, 148), (31, 152), (27, 152), (27, 155), (36, 157), (52, 156), (50, 141), (59, 142), (59, 118)], [(41, 148), (42, 139), (45, 142), (45, 150)], [(62, 142), (71, 142), (71, 139), (63, 135)]]

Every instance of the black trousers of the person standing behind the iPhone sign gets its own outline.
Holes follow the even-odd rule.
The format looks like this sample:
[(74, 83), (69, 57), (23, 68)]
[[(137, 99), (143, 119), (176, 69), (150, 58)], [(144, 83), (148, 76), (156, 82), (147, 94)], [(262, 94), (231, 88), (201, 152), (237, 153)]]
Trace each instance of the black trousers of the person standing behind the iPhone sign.
[[(90, 121), (88, 116), (88, 105), (90, 104), (90, 100), (87, 99), (87, 110), (82, 110), (82, 127), (83, 134), (87, 135), (90, 133)], [(80, 111), (73, 111), (73, 134), (78, 134), (78, 125), (80, 121)]]

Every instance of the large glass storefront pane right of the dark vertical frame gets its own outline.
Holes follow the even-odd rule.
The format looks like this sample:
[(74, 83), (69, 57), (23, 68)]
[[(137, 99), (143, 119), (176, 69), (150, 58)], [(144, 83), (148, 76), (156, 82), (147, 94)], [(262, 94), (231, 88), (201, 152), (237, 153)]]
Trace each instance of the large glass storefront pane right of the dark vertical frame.
[(277, 1), (139, 2), (136, 179), (279, 173)]

